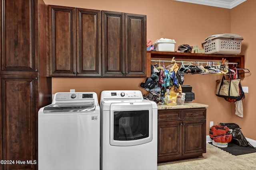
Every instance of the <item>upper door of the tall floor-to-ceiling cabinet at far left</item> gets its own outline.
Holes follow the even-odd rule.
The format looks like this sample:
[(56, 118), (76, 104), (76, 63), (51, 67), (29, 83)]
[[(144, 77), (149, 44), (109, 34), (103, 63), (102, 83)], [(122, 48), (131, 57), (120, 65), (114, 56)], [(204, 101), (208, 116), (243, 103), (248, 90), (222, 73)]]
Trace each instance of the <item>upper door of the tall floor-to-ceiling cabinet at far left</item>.
[(34, 0), (1, 1), (0, 74), (31, 74), (38, 71), (38, 54), (35, 51), (37, 33), (34, 31), (37, 10)]

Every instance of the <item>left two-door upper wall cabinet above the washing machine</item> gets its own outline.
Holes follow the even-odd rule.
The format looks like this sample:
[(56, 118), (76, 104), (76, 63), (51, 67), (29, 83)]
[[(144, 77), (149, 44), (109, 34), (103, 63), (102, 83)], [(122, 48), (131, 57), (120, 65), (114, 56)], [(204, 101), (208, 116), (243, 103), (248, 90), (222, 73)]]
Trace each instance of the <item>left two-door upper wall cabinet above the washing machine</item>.
[(49, 76), (101, 76), (100, 11), (48, 8)]

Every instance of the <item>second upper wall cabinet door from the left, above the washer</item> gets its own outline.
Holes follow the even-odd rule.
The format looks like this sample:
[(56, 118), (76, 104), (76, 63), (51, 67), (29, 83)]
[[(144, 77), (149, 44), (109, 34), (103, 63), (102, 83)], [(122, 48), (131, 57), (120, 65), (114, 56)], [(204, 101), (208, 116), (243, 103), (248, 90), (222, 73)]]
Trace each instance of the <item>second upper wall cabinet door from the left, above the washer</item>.
[(101, 76), (100, 18), (99, 10), (76, 8), (77, 76)]

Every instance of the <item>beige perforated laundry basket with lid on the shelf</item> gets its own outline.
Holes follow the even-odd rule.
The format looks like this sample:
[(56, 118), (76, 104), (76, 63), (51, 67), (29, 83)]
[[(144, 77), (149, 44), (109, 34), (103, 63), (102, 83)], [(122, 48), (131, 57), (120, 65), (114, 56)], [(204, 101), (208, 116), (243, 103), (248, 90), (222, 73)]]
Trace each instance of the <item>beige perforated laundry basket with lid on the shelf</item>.
[(243, 37), (236, 34), (217, 34), (207, 37), (202, 45), (206, 54), (240, 54)]

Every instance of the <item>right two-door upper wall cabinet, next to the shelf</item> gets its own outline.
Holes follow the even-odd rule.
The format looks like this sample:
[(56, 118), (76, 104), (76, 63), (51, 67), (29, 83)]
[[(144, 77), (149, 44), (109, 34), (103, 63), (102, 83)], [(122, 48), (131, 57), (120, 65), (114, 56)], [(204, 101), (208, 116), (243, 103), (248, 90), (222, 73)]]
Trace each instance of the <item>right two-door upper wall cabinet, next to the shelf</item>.
[(102, 11), (102, 75), (146, 76), (146, 16)]

